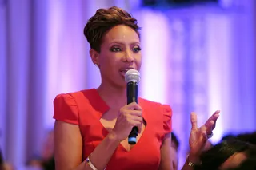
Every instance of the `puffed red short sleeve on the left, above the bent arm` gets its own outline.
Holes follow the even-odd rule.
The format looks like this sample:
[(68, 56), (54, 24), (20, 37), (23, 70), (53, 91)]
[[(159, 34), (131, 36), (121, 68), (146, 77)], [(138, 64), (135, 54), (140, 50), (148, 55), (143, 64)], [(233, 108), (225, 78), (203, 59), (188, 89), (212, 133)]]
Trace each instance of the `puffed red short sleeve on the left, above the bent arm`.
[(70, 94), (58, 94), (54, 99), (54, 119), (79, 125), (78, 105)]

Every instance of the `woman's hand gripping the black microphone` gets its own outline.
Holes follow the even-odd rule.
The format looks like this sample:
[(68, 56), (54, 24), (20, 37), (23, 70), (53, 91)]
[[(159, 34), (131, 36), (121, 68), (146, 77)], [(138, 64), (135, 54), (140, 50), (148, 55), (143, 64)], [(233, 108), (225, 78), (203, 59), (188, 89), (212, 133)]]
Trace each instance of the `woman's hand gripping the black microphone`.
[(136, 102), (133, 102), (119, 110), (113, 132), (118, 140), (122, 141), (127, 138), (134, 126), (137, 126), (138, 132), (141, 132), (142, 123), (142, 108)]

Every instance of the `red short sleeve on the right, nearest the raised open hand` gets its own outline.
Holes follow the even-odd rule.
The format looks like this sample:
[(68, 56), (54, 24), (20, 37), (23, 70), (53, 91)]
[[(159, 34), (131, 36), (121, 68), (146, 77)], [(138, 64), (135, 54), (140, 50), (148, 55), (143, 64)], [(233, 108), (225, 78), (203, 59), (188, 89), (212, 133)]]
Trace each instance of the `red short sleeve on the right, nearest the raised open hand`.
[(163, 109), (163, 130), (165, 135), (172, 131), (172, 110), (170, 109), (170, 105), (162, 105)]

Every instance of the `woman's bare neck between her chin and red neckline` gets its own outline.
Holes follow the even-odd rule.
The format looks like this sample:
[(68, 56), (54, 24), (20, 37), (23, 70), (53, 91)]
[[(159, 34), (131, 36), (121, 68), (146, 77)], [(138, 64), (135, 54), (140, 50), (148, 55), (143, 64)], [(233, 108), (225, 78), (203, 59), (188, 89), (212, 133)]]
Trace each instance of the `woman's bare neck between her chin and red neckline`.
[(113, 85), (100, 85), (97, 89), (99, 95), (111, 109), (120, 109), (126, 105), (126, 87)]

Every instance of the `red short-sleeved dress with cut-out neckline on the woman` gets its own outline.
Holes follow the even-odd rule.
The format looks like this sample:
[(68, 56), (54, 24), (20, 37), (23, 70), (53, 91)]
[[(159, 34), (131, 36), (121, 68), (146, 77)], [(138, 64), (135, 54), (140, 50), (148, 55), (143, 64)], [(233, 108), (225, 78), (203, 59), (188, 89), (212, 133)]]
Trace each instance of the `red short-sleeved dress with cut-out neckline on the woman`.
[[(163, 137), (171, 132), (171, 109), (169, 105), (142, 98), (138, 99), (138, 104), (146, 121), (145, 130), (130, 151), (126, 151), (122, 144), (118, 145), (106, 170), (157, 170), (159, 167)], [(82, 160), (108, 134), (99, 121), (108, 109), (96, 89), (59, 94), (54, 99), (54, 119), (79, 125), (83, 140)]]

